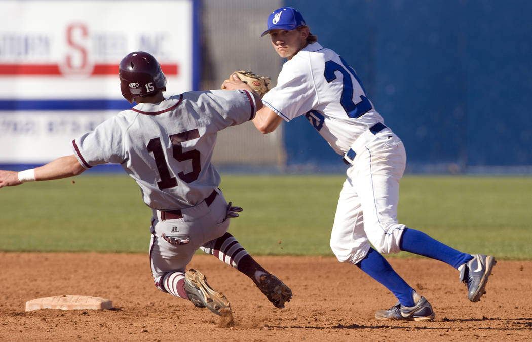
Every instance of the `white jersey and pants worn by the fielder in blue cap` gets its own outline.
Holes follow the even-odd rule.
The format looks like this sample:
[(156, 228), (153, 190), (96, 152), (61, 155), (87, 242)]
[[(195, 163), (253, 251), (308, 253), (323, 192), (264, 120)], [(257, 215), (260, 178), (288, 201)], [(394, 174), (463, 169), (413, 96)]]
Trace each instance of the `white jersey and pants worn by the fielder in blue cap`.
[(337, 53), (318, 43), (286, 62), (264, 105), (286, 121), (304, 114), (347, 169), (330, 246), (340, 262), (356, 264), (370, 243), (380, 253), (400, 251), (404, 229), (397, 222), (404, 146), (373, 108), (354, 70)]

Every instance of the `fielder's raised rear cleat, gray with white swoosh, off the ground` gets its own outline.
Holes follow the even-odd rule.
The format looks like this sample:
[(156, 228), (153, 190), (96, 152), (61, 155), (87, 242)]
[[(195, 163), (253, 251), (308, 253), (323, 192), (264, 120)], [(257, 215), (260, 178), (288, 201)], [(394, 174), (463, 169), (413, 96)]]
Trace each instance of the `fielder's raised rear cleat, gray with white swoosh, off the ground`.
[(480, 297), (486, 293), (486, 284), (493, 266), (497, 263), (491, 255), (475, 254), (473, 258), (458, 267), (460, 282), (467, 285), (467, 297), (471, 302), (480, 301)]

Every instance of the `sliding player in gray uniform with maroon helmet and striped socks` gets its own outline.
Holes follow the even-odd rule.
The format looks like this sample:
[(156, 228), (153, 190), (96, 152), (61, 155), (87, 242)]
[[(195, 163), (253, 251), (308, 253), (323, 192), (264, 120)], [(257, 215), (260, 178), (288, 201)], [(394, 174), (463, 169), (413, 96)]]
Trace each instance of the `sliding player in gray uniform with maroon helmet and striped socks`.
[(117, 163), (152, 208), (149, 257), (155, 286), (215, 314), (230, 311), (198, 270), (186, 270), (198, 248), (250, 277), (278, 308), (292, 291), (266, 271), (228, 232), (242, 208), (218, 189), (211, 164), (218, 131), (253, 119), (260, 96), (249, 90), (190, 91), (165, 98), (166, 78), (146, 52), (120, 62), (122, 95), (137, 105), (72, 141), (73, 154), (36, 169), (0, 171), (0, 187), (76, 176), (98, 164)]

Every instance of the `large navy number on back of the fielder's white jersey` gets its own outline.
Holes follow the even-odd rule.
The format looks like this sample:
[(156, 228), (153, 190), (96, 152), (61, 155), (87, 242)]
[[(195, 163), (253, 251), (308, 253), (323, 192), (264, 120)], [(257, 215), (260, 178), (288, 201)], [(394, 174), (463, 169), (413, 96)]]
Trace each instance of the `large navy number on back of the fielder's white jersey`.
[[(371, 110), (371, 102), (367, 97), (365, 97), (365, 90), (362, 87), (362, 82), (360, 82), (360, 79), (356, 76), (355, 71), (344, 61), (342, 57), (340, 57), (340, 60), (342, 61), (343, 66), (333, 61), (325, 62), (325, 71), (323, 72), (323, 76), (325, 76), (327, 82), (330, 83), (336, 79), (335, 71), (342, 73), (343, 88), (342, 96), (340, 97), (340, 104), (344, 108), (347, 116), (350, 118), (359, 118), (361, 115)], [(362, 87), (362, 91), (364, 92), (364, 95), (360, 95), (360, 99), (362, 101), (356, 104), (353, 102), (353, 81), (351, 80), (351, 75), (356, 81), (359, 82), (360, 86)]]

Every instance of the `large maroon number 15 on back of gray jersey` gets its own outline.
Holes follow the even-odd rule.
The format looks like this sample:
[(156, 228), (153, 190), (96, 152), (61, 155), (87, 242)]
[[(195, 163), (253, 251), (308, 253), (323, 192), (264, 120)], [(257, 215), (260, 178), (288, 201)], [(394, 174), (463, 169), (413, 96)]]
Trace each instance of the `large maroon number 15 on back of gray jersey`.
[[(170, 141), (172, 142), (172, 156), (174, 159), (180, 162), (186, 160), (190, 160), (192, 162), (192, 171), (188, 173), (181, 171), (177, 174), (182, 181), (187, 183), (195, 181), (198, 179), (198, 176), (200, 176), (201, 154), (200, 151), (197, 151), (197, 149), (183, 152), (181, 143), (184, 141), (197, 139), (199, 137), (200, 132), (197, 128), (169, 136)], [(168, 165), (164, 157), (161, 139), (153, 138), (152, 140), (149, 140), (147, 148), (149, 152), (153, 153), (155, 165), (157, 166), (157, 171), (159, 171), (159, 177), (161, 177), (161, 181), (157, 182), (157, 187), (159, 187), (160, 190), (177, 187), (177, 179), (170, 176), (170, 170), (168, 170)]]

